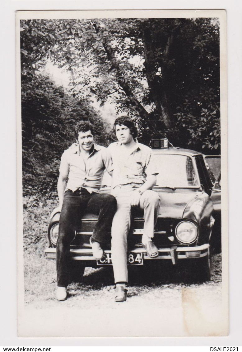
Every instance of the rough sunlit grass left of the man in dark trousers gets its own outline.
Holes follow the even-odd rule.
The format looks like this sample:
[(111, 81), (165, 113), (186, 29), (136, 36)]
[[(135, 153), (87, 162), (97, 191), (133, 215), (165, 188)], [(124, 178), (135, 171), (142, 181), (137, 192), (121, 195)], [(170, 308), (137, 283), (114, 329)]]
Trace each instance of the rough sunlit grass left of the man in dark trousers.
[(49, 299), (56, 288), (56, 262), (44, 256), (49, 245), (47, 228), (50, 214), (57, 206), (57, 200), (45, 200), (42, 197), (24, 197), (24, 284), (25, 301), (34, 297)]

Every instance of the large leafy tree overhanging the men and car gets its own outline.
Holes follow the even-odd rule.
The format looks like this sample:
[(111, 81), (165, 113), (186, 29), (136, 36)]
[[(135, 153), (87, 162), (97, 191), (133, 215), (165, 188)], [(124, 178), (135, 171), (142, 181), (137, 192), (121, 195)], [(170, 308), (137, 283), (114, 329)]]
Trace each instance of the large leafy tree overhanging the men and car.
[(219, 150), (214, 19), (22, 20), (21, 55), (23, 74), (49, 57), (72, 73), (72, 94), (94, 95), (101, 105), (112, 97), (118, 112), (136, 119), (145, 143), (162, 133), (181, 146)]

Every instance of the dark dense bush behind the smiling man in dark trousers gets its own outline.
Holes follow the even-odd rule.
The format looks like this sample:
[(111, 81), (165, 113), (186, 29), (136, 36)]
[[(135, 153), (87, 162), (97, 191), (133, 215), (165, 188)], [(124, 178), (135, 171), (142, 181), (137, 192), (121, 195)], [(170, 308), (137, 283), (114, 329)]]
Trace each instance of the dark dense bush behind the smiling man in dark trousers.
[(87, 101), (73, 98), (47, 76), (23, 76), (21, 92), (23, 195), (52, 199), (60, 157), (75, 142), (76, 123), (92, 122), (102, 145), (107, 143), (106, 124)]

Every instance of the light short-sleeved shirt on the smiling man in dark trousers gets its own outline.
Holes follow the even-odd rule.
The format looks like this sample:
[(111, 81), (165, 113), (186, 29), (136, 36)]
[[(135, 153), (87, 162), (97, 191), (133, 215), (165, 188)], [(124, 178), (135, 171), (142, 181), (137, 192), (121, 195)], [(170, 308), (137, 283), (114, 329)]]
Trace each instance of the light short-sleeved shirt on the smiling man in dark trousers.
[(90, 193), (100, 193), (104, 170), (113, 170), (110, 152), (107, 148), (94, 144), (87, 159), (83, 159), (79, 145), (71, 146), (65, 150), (60, 160), (59, 172), (68, 177), (66, 189), (73, 192), (79, 187), (87, 189)]

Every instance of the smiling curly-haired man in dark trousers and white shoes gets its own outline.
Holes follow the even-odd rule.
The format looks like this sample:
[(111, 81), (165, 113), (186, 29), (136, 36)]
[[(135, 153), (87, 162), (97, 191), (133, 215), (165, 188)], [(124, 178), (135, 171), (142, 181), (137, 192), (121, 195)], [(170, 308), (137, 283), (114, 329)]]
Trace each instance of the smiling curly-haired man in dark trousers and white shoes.
[[(98, 214), (90, 244), (96, 259), (103, 256), (102, 245), (107, 241), (116, 199), (109, 194), (100, 194), (103, 172), (112, 174), (113, 165), (107, 148), (94, 144), (94, 128), (90, 122), (81, 121), (75, 127), (77, 145), (65, 150), (60, 161), (57, 191), (59, 207), (59, 236), (57, 240), (57, 293), (56, 298), (67, 298), (69, 283), (70, 243), (75, 236), (76, 221), (85, 210)], [(67, 184), (66, 181), (68, 180)]]

